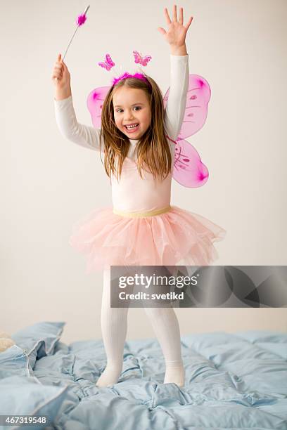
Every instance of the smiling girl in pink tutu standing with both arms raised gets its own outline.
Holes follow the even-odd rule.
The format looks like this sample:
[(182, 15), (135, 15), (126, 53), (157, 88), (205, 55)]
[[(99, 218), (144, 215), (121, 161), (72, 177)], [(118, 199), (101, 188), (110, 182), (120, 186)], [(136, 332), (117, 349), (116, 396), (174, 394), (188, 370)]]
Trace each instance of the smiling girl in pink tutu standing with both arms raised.
[[(122, 371), (128, 308), (110, 308), (110, 266), (174, 266), (179, 261), (205, 265), (217, 253), (212, 242), (225, 231), (211, 221), (170, 206), (174, 143), (181, 129), (189, 86), (189, 57), (183, 9), (168, 30), (171, 82), (167, 107), (155, 81), (146, 74), (114, 79), (102, 107), (101, 129), (77, 122), (70, 74), (60, 55), (53, 68), (55, 110), (60, 132), (79, 145), (104, 154), (113, 208), (95, 209), (75, 224), (70, 245), (87, 255), (87, 271), (103, 268), (101, 329), (107, 365), (97, 386), (115, 384)], [(145, 308), (165, 358), (164, 383), (184, 386), (179, 323), (172, 307)]]

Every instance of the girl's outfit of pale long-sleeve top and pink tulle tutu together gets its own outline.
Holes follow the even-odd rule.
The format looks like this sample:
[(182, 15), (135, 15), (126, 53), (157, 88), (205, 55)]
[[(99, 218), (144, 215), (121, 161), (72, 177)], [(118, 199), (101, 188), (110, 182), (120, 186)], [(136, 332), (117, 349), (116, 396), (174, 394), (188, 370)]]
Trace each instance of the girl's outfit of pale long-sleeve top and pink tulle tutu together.
[[(186, 114), (189, 56), (171, 55), (170, 62), (165, 129), (170, 138), (172, 165), (175, 158), (179, 165), (177, 138)], [(77, 122), (72, 96), (54, 100), (54, 104), (63, 136), (85, 148), (100, 151), (100, 130)], [(129, 141), (119, 181), (111, 176), (113, 207), (94, 209), (72, 228), (70, 245), (87, 256), (87, 273), (105, 266), (173, 266), (179, 262), (207, 265), (214, 261), (217, 251), (213, 242), (222, 240), (225, 230), (203, 216), (171, 206), (173, 172), (159, 180), (143, 171), (141, 178), (136, 165), (138, 141)], [(204, 181), (205, 176), (197, 174), (196, 178)]]

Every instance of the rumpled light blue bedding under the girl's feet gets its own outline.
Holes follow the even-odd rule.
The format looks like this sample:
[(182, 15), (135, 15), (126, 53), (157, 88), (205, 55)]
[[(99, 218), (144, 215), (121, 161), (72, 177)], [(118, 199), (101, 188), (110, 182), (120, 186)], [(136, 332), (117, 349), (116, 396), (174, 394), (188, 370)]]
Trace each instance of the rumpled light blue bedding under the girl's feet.
[[(46, 413), (53, 424), (45, 428), (60, 430), (287, 430), (286, 333), (182, 336), (182, 389), (163, 384), (156, 339), (127, 341), (119, 382), (98, 389), (103, 342), (66, 345), (64, 325), (27, 327), (12, 336), (16, 346), (0, 353), (1, 415)], [(37, 428), (43, 424), (31, 427)]]

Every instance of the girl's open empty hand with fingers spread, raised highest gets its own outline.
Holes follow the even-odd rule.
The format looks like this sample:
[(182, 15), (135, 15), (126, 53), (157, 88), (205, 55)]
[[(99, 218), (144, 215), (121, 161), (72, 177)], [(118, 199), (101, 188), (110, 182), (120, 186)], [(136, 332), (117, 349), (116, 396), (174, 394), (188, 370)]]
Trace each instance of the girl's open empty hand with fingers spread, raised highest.
[(170, 15), (168, 14), (167, 8), (164, 10), (165, 18), (167, 20), (167, 32), (164, 28), (158, 27), (158, 31), (165, 37), (165, 40), (171, 46), (183, 46), (185, 44), (186, 33), (189, 30), (189, 26), (193, 20), (193, 17), (189, 18), (189, 21), (184, 25), (184, 9), (179, 10), (179, 19), (177, 20), (177, 5), (174, 4), (172, 10), (172, 20), (170, 20)]

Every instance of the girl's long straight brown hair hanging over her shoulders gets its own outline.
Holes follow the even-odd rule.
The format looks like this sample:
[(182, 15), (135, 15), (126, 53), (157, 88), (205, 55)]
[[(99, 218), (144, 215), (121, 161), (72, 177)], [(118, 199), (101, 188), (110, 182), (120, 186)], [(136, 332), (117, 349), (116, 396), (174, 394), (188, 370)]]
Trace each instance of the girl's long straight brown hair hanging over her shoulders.
[(155, 178), (166, 178), (171, 171), (172, 155), (166, 137), (164, 125), (164, 107), (162, 93), (158, 84), (144, 74), (148, 83), (136, 78), (123, 79), (112, 86), (103, 102), (101, 114), (101, 143), (104, 144), (104, 167), (106, 174), (117, 177), (122, 174), (122, 164), (129, 150), (129, 138), (115, 124), (113, 95), (122, 87), (141, 89), (146, 92), (151, 107), (151, 125), (136, 144), (138, 170), (142, 178), (142, 169), (148, 169)]

